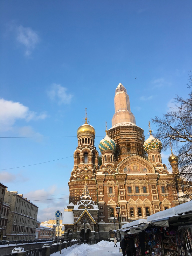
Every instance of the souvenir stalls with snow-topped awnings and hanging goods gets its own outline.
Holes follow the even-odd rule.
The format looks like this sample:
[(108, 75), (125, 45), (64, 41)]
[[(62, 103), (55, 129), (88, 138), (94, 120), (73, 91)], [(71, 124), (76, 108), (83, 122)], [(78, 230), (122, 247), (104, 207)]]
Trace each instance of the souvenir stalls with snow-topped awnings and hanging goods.
[(192, 256), (192, 201), (126, 223), (117, 232), (134, 238), (136, 256)]

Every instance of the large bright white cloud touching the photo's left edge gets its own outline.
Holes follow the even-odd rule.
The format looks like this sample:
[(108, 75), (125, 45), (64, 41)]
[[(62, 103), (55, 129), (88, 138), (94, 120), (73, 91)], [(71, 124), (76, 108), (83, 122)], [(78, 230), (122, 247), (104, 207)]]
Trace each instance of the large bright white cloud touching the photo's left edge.
[(37, 114), (34, 111), (30, 111), (27, 106), (19, 102), (4, 99), (0, 99), (0, 109), (1, 131), (11, 130), (18, 119), (25, 119), (28, 122), (30, 120), (45, 119), (47, 116), (46, 113)]

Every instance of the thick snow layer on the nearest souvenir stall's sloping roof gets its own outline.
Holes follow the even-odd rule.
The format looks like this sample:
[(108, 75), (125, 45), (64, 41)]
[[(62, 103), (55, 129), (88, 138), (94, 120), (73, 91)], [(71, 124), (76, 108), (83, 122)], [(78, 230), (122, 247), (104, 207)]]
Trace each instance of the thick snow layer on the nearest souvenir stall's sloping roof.
[(155, 221), (159, 219), (169, 218), (171, 216), (184, 214), (189, 211), (192, 212), (192, 201), (152, 214), (147, 217), (147, 221)]

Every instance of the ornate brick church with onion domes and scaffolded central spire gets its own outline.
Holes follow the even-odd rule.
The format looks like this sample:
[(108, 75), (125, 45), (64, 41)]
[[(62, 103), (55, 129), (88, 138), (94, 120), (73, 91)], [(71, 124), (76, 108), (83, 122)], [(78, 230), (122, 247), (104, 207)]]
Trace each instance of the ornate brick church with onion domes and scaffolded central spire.
[(175, 178), (178, 158), (169, 156), (172, 172), (162, 163), (162, 143), (152, 134), (145, 141), (136, 125), (129, 95), (119, 83), (115, 90), (112, 127), (95, 147), (95, 129), (87, 122), (77, 129), (77, 148), (64, 210), (65, 240), (84, 237), (109, 240), (123, 224), (179, 204), (181, 184)]

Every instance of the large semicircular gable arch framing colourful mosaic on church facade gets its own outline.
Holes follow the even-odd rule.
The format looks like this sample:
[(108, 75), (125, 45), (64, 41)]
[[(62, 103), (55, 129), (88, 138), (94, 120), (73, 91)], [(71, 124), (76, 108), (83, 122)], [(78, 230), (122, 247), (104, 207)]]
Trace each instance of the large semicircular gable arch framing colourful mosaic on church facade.
[(117, 167), (117, 172), (123, 174), (154, 174), (155, 167), (144, 157), (134, 154), (128, 156), (119, 163)]

